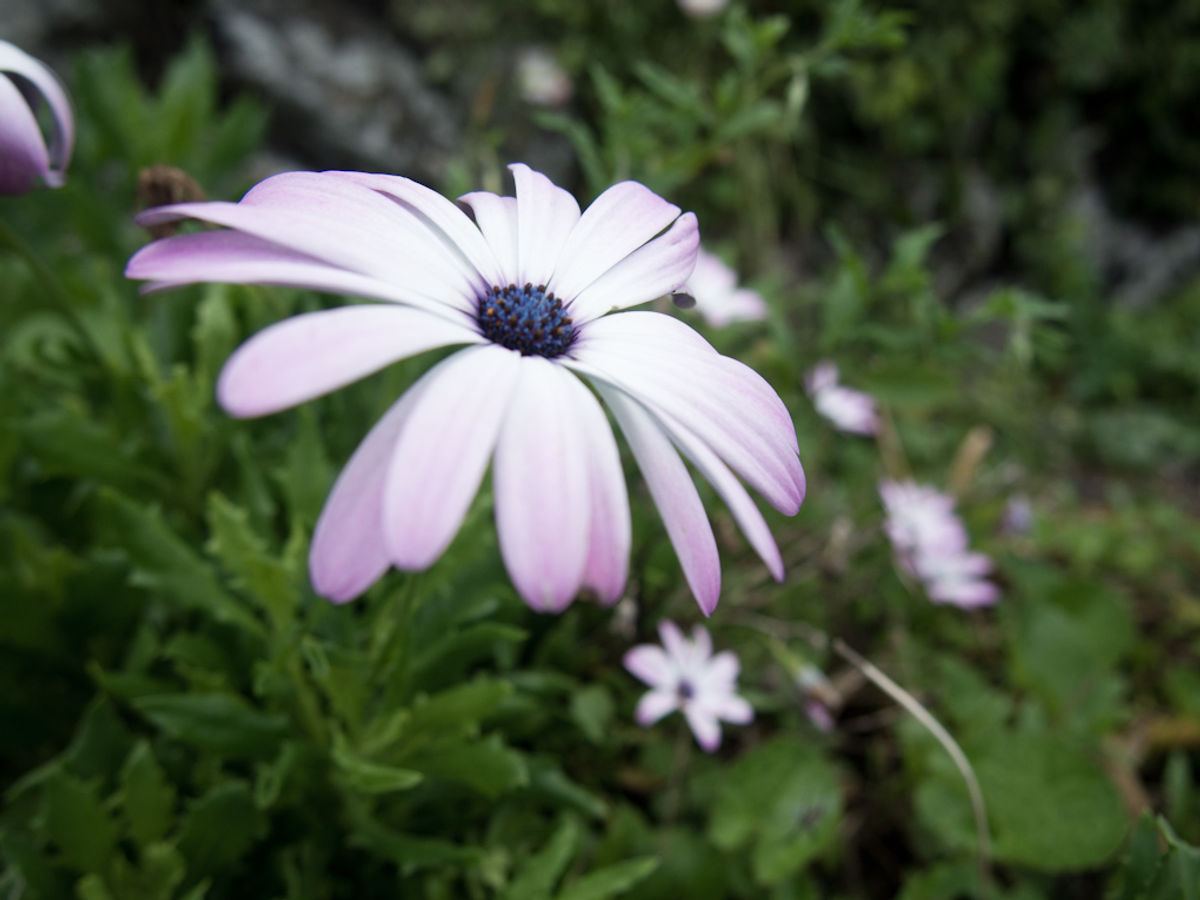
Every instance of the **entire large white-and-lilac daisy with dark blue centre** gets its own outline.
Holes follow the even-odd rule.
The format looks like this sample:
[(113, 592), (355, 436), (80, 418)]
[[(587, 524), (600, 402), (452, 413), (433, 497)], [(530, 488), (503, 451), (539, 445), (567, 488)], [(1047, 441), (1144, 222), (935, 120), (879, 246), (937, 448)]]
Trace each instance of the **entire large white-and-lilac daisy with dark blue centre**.
[(396, 401), (334, 485), (310, 556), (313, 584), (331, 600), (356, 596), (390, 565), (432, 565), (491, 463), (500, 554), (526, 602), (559, 611), (584, 587), (614, 602), (629, 566), (629, 499), (596, 395), (706, 614), (720, 562), (680, 451), (781, 578), (779, 548), (738, 478), (781, 512), (799, 509), (804, 470), (779, 395), (671, 316), (607, 314), (688, 278), (695, 215), (634, 181), (581, 212), (545, 175), (511, 170), (516, 197), (478, 191), (457, 205), (396, 175), (276, 175), (240, 203), (143, 212), (144, 226), (198, 218), (226, 228), (158, 240), (126, 271), (150, 290), (226, 281), (384, 301), (296, 316), (242, 344), (217, 384), (238, 416), (466, 344)]

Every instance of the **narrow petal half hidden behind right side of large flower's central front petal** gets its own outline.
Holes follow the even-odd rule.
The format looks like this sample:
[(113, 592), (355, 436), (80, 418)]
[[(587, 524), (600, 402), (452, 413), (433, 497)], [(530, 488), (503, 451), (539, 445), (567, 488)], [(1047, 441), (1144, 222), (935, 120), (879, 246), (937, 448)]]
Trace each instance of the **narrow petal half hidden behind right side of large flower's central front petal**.
[(574, 376), (569, 384), (575, 426), (580, 430), (588, 473), (592, 521), (588, 527), (588, 560), (583, 584), (614, 604), (629, 577), (629, 492), (620, 466), (620, 451), (600, 403)]

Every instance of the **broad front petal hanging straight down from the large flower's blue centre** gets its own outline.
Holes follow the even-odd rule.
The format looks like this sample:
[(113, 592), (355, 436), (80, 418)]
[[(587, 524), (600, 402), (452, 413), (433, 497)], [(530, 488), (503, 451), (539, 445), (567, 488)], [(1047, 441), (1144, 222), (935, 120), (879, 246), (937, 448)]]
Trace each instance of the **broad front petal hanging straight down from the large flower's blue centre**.
[(550, 360), (521, 359), (492, 469), (504, 565), (517, 593), (542, 612), (560, 612), (575, 599), (588, 558), (587, 449), (572, 415), (575, 380)]

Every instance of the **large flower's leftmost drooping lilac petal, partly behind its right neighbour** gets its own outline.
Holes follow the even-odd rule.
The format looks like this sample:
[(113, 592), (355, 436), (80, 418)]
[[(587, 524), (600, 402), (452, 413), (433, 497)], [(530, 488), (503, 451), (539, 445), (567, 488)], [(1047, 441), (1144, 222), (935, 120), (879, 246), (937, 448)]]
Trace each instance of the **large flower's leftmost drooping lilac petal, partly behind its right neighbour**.
[(404, 394), (364, 438), (317, 520), (308, 575), (316, 592), (334, 602), (353, 600), (391, 565), (383, 540), (383, 485), (415, 397), (415, 389)]

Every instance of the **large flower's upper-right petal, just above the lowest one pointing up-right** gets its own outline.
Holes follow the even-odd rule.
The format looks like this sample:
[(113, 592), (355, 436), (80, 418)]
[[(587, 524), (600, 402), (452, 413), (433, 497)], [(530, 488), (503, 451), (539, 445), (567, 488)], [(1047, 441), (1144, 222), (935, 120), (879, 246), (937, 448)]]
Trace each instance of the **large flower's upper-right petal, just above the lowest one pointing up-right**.
[(564, 299), (578, 296), (678, 216), (678, 206), (644, 185), (636, 181), (613, 185), (592, 202), (571, 229), (550, 289)]

